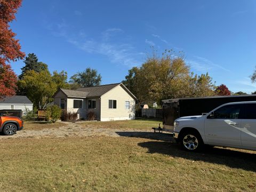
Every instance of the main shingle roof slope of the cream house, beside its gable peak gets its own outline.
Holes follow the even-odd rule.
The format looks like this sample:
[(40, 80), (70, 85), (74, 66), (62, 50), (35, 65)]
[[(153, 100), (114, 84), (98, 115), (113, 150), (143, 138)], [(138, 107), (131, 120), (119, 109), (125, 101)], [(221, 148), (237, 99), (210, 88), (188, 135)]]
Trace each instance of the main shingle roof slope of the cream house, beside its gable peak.
[(78, 88), (77, 91), (86, 91), (89, 92), (87, 97), (100, 97), (101, 95), (107, 93), (117, 85), (121, 83), (115, 83), (115, 84), (109, 84), (109, 85), (99, 85), (99, 86), (93, 86), (93, 87), (84, 87), (84, 88)]

